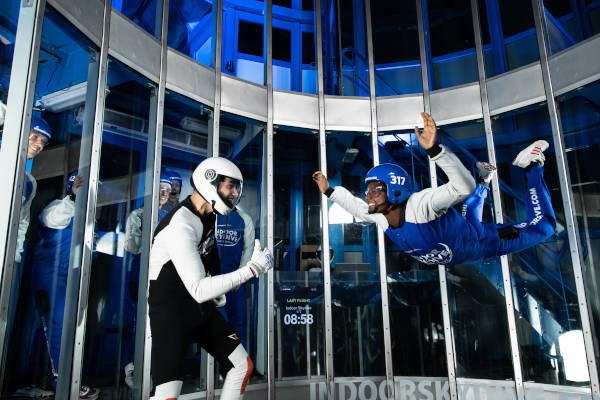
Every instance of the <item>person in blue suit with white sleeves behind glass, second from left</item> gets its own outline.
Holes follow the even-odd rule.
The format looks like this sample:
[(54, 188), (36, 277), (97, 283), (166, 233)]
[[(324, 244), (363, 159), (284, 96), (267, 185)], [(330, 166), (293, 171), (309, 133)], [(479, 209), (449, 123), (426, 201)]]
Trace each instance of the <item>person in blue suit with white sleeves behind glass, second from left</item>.
[[(33, 250), (31, 289), (40, 315), (54, 378), (58, 376), (60, 342), (67, 294), (75, 197), (83, 178), (73, 172), (67, 181), (67, 195), (50, 202), (39, 216), (40, 241)], [(54, 381), (56, 384), (56, 380)], [(82, 399), (96, 399), (100, 391), (82, 385)]]

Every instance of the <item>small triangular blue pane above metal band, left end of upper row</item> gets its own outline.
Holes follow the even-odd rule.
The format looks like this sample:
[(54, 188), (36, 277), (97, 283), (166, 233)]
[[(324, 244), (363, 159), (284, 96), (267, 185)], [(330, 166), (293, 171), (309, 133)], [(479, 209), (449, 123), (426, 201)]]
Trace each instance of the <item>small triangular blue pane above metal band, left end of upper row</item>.
[[(112, 0), (111, 6), (140, 28), (160, 39), (161, 0)], [(169, 21), (169, 36), (171, 36), (171, 21)]]

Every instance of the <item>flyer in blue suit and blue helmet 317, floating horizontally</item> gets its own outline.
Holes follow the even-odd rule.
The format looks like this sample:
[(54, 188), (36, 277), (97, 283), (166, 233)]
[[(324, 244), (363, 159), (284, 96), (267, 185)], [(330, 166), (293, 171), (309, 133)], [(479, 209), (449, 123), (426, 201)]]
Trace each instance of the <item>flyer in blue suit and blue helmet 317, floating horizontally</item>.
[(450, 266), (514, 253), (554, 233), (556, 217), (543, 174), (548, 142), (532, 143), (513, 161), (527, 176), (527, 221), (485, 223), (464, 218), (452, 207), (473, 193), (475, 181), (458, 157), (437, 143), (433, 118), (427, 113), (421, 116), (423, 131), (415, 127), (419, 144), (446, 173), (448, 183), (413, 192), (410, 176), (402, 167), (381, 164), (365, 177), (366, 202), (341, 186), (332, 189), (317, 171), (313, 180), (319, 190), (355, 217), (375, 222), (400, 250), (425, 264)]

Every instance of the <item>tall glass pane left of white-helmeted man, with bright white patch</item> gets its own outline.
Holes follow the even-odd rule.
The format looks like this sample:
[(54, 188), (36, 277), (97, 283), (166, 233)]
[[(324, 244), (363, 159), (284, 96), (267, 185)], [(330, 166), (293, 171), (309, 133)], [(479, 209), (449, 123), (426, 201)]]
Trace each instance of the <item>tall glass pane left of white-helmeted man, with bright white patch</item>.
[(148, 132), (158, 92), (112, 58), (107, 89), (83, 371), (88, 385), (109, 394), (127, 389), (122, 376), (134, 361), (140, 274), (135, 254), (141, 249)]

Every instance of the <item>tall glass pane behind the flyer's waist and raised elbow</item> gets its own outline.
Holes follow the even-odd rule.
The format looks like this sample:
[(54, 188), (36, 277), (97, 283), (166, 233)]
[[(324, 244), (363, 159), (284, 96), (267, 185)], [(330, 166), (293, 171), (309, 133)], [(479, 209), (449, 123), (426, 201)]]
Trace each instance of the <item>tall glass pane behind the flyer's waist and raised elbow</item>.
[[(440, 143), (459, 157), (477, 181), (474, 194), (455, 207), (468, 218), (466, 214), (471, 212), (465, 208), (468, 205), (481, 213), (478, 220), (494, 223), (492, 195), (476, 166), (477, 161), (488, 160), (483, 122), (443, 126), (438, 135)], [(474, 199), (477, 201), (473, 202)], [(478, 204), (481, 204), (479, 209)], [(457, 377), (513, 379), (509, 336), (498, 335), (509, 331), (500, 258), (451, 267), (447, 270), (447, 280)]]

